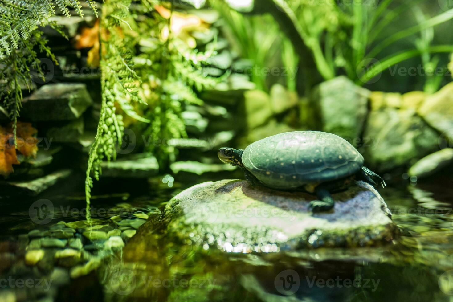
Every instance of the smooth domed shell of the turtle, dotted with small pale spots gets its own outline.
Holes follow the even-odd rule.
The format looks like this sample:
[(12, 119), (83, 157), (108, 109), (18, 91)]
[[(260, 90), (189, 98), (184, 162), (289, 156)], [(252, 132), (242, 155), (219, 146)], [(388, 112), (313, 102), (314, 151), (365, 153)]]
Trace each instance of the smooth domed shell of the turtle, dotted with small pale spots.
[(242, 164), (264, 185), (290, 189), (348, 177), (361, 168), (363, 157), (335, 134), (294, 131), (250, 144)]

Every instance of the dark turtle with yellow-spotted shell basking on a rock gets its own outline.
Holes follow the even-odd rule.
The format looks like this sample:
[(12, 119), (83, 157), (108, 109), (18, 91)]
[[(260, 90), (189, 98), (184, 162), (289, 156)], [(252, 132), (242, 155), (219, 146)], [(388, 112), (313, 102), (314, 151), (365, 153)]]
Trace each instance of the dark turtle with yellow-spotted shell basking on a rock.
[(223, 163), (243, 168), (252, 185), (316, 195), (318, 200), (309, 204), (313, 212), (331, 210), (331, 193), (346, 190), (354, 180), (386, 186), (381, 176), (363, 166), (364, 158), (352, 144), (327, 132), (280, 133), (244, 150), (222, 147), (217, 156)]

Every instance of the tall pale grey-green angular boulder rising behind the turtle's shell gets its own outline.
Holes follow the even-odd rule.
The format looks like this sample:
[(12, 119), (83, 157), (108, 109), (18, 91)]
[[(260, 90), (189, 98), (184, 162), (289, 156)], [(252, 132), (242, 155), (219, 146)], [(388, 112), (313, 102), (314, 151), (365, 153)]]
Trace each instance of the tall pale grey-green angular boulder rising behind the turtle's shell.
[(354, 139), (361, 137), (370, 93), (341, 76), (319, 84), (310, 102), (319, 107), (323, 131)]

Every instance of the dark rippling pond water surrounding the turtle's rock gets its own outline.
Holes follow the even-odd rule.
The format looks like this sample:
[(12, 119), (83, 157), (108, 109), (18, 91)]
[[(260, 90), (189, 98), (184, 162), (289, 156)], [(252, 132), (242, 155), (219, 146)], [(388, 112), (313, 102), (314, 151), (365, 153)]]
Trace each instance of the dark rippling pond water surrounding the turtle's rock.
[[(234, 177), (241, 176), (233, 173), (210, 178)], [(171, 187), (168, 177), (164, 181), (167, 183), (156, 178), (97, 186), (91, 224), (76, 223), (85, 220), (84, 196), (70, 184), (34, 198), (3, 197), (0, 300), (453, 300), (453, 271), (449, 271), (453, 268), (453, 187), (448, 186), (452, 180), (448, 173), (417, 184), (396, 177), (379, 190), (401, 228), (400, 237), (390, 244), (252, 254), (226, 253), (176, 240), (173, 234), (178, 230), (166, 228), (162, 210), (176, 193), (206, 179), (192, 177), (190, 183), (178, 180)], [(43, 208), (43, 199), (51, 201), (53, 209)], [(36, 201), (51, 218), (45, 223), (37, 223), (33, 215), (30, 218), (30, 204)], [(135, 236), (121, 235), (126, 241), (124, 249), (107, 249), (109, 240), (98, 238), (90, 243), (86, 235), (79, 234), (85, 234), (88, 228), (110, 232), (122, 225), (123, 233), (130, 230), (132, 235), (135, 227), (143, 223), (141, 219), (147, 217)], [(119, 222), (124, 220), (126, 225)], [(63, 226), (60, 221), (66, 224)], [(134, 224), (135, 227), (130, 226)], [(25, 265), (30, 249), (27, 247), (36, 239), (26, 234), (34, 229), (58, 234), (65, 232), (61, 230), (75, 232), (62, 238), (80, 238), (84, 260), (77, 258), (80, 255), (73, 262), (55, 260), (58, 248), (41, 245), (44, 256), (35, 265)], [(73, 268), (77, 266), (78, 270)], [(70, 278), (77, 274), (81, 277)], [(34, 281), (20, 286), (20, 279)], [(44, 280), (43, 287), (38, 286), (38, 279)], [(9, 285), (5, 286), (7, 282)]]

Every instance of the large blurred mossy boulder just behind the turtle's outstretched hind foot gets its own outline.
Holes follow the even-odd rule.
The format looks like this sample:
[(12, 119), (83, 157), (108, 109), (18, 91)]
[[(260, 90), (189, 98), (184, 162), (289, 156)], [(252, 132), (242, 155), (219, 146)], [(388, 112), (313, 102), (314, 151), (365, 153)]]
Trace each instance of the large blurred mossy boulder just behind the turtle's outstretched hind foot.
[(387, 171), (439, 148), (438, 138), (415, 110), (386, 108), (371, 111), (360, 149), (370, 168)]

